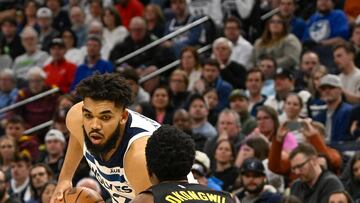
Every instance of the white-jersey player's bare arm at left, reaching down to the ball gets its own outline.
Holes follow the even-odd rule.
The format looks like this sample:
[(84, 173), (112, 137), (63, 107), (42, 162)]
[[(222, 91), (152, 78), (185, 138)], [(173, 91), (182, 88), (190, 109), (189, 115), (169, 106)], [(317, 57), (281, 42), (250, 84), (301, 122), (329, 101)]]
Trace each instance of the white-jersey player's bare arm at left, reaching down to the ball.
[(66, 126), (70, 131), (69, 144), (66, 151), (58, 184), (51, 198), (51, 203), (63, 198), (64, 191), (72, 187), (72, 178), (83, 157), (82, 103), (74, 105), (66, 116)]

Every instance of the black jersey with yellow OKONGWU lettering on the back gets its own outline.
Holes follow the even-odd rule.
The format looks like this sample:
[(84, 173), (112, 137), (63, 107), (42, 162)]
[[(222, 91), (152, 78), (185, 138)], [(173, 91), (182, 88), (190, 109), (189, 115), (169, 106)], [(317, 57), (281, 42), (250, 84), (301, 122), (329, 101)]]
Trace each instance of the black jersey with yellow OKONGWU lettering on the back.
[(229, 193), (186, 182), (160, 183), (142, 193), (151, 193), (155, 203), (234, 202)]

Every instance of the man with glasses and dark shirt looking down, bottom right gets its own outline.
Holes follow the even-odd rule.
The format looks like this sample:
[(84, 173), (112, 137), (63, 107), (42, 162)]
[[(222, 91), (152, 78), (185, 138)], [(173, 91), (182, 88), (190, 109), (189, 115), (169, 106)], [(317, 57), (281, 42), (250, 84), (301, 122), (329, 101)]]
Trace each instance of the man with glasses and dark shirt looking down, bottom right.
[(320, 167), (313, 146), (299, 144), (290, 153), (290, 162), (291, 171), (299, 176), (291, 186), (291, 194), (303, 202), (326, 203), (333, 192), (344, 190), (337, 176)]

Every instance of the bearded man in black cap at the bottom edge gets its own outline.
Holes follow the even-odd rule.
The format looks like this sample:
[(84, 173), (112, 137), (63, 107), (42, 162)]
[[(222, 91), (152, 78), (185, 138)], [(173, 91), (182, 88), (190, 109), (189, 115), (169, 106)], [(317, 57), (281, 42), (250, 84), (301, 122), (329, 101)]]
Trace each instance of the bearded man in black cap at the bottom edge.
[[(243, 188), (236, 196), (243, 203), (249, 202), (280, 202), (282, 195), (266, 185), (266, 174), (263, 163), (256, 159), (246, 159), (240, 169)], [(271, 188), (271, 189), (270, 189)]]

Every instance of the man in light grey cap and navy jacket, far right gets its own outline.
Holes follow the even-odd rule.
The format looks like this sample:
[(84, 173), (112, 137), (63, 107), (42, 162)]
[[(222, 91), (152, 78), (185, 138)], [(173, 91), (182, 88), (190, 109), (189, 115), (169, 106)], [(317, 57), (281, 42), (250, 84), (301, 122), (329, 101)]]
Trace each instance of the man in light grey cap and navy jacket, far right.
[(342, 85), (339, 76), (327, 74), (320, 79), (320, 94), (327, 109), (314, 120), (325, 125), (327, 143), (349, 139), (350, 113), (352, 106), (342, 98)]

